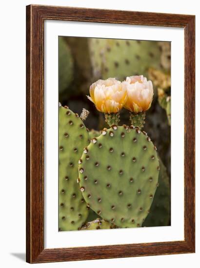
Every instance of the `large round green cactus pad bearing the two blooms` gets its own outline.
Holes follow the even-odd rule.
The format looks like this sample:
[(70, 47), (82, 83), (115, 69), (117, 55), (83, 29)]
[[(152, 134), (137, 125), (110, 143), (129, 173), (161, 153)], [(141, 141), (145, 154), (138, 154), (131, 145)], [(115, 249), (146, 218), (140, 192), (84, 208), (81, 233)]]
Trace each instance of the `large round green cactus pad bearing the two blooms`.
[(79, 161), (88, 206), (119, 227), (141, 227), (158, 184), (156, 148), (145, 132), (113, 126), (93, 138)]

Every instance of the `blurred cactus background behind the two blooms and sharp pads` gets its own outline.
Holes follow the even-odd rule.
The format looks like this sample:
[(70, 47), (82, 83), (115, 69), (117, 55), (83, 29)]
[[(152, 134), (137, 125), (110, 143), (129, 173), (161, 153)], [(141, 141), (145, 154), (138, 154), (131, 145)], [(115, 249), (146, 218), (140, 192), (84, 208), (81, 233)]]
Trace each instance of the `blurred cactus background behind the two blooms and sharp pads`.
[[(144, 75), (152, 80), (154, 98), (146, 113), (144, 131), (158, 149), (169, 177), (171, 171), (171, 43), (162, 41), (59, 37), (59, 101), (80, 115), (90, 114), (88, 129), (108, 127), (104, 115), (89, 101), (89, 87), (98, 79)], [(130, 124), (129, 113), (122, 109), (120, 124)], [(169, 194), (170, 195), (170, 190)], [(169, 196), (168, 196), (169, 197)], [(170, 199), (170, 198), (169, 198)], [(169, 219), (170, 221), (170, 219)], [(166, 225), (166, 224), (165, 224)]]

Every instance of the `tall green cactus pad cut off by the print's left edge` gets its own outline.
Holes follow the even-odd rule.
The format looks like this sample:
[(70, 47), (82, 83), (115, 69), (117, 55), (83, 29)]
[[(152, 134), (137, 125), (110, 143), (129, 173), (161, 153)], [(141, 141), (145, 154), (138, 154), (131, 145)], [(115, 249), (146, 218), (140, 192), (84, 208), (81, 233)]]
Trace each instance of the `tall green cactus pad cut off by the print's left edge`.
[(77, 179), (78, 161), (88, 132), (68, 107), (59, 108), (59, 230), (78, 230), (88, 216), (88, 210)]

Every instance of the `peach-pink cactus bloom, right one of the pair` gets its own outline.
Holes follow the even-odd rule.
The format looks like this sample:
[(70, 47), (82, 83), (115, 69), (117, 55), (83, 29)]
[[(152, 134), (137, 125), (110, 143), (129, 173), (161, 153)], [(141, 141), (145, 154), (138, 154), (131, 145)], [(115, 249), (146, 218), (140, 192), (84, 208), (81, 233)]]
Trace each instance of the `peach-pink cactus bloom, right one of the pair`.
[(146, 77), (126, 77), (122, 82), (122, 88), (127, 91), (127, 101), (124, 108), (130, 112), (141, 113), (151, 107), (154, 91), (153, 84)]

